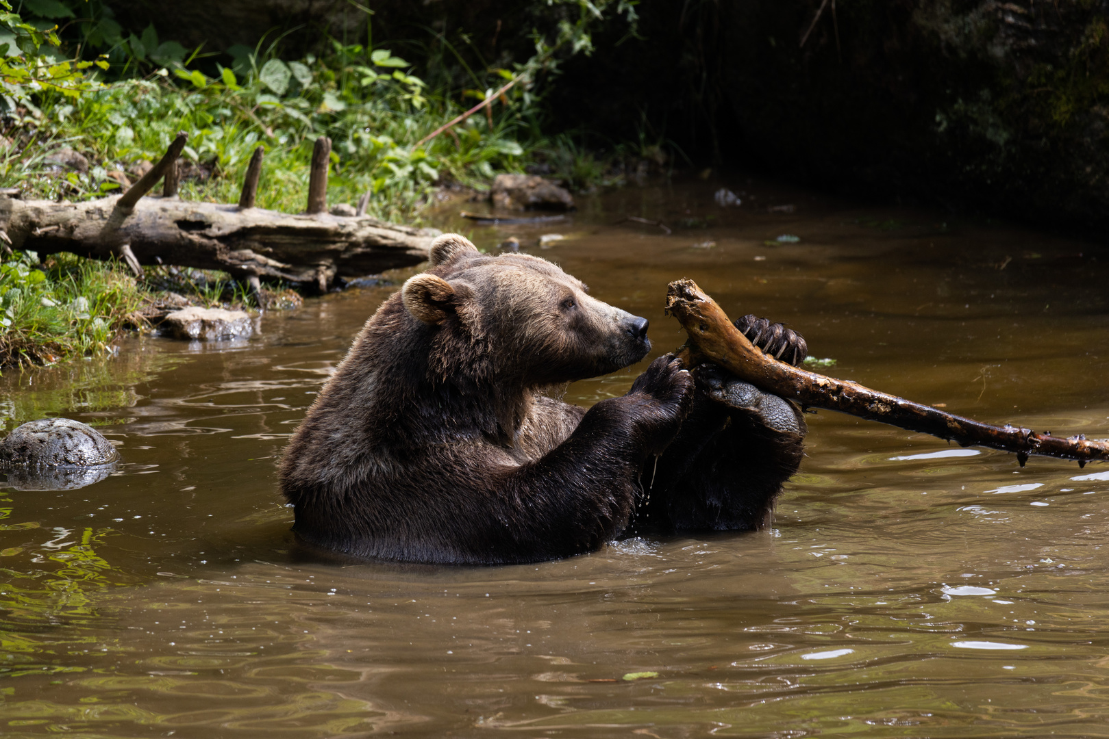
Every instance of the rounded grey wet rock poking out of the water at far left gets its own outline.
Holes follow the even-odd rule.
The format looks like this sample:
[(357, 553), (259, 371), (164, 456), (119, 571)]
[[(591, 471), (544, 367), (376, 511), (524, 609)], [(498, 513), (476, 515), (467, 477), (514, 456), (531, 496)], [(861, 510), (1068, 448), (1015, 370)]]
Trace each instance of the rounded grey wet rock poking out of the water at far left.
[(92, 427), (70, 419), (39, 419), (17, 428), (0, 442), (0, 468), (91, 468), (120, 455)]

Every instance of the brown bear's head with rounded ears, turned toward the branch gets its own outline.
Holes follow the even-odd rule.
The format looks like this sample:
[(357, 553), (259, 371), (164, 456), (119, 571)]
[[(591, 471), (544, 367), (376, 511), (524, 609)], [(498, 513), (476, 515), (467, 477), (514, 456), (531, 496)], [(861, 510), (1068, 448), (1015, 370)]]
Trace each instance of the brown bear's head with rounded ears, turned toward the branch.
[(465, 237), (444, 234), (430, 260), (428, 271), (405, 283), (405, 309), (445, 340), (465, 341), (460, 355), (479, 349), (498, 378), (581, 380), (638, 362), (651, 349), (647, 319), (591, 297), (546, 259), (484, 255)]

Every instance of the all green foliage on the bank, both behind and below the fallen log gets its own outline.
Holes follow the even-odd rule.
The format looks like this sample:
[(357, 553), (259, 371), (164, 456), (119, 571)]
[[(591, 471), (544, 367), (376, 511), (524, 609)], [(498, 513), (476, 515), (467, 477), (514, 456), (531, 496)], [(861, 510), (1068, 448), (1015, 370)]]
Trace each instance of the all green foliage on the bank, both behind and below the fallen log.
[[(511, 70), (467, 66), (467, 89), (459, 91), (449, 75), (429, 85), (407, 52), (370, 47), (369, 34), (366, 45), (332, 40), (326, 53), (297, 60), (279, 57), (279, 39), (267, 48), (260, 41), (202, 54), (160, 39), (153, 27), (125, 31), (102, 0), (23, 0), (21, 14), (0, 0), (7, 11), (0, 13), (0, 116), (16, 124), (4, 134), (14, 145), (0, 153), (0, 186), (18, 185), (27, 196), (99, 197), (119, 187), (109, 172), (156, 161), (176, 132), (186, 131), (180, 192), (191, 199), (237, 201), (261, 145), (266, 158), (258, 206), (303, 211), (312, 147), (322, 135), (333, 142), (332, 204), (353, 204), (368, 192), (368, 212), (381, 218), (411, 220), (436, 185), (484, 188), (497, 171), (521, 171), (537, 154), (556, 163), (571, 186), (587, 188), (603, 181), (606, 167), (570, 137), (542, 136), (539, 81), (556, 74), (567, 57), (590, 53), (590, 28), (607, 13), (633, 25), (634, 3), (548, 4), (577, 9), (577, 18), (563, 13), (552, 32), (535, 31), (536, 53)], [(58, 21), (67, 23), (62, 39)], [(70, 48), (99, 55), (65, 59)], [(423, 142), (509, 81), (512, 89), (496, 104)], [(81, 152), (89, 172), (59, 172), (45, 160), (62, 145)], [(75, 257), (53, 258), (48, 267), (37, 263), (33, 253), (17, 253), (0, 266), (0, 366), (108, 349), (142, 288), (111, 265)], [(228, 294), (247, 302), (230, 280), (201, 281), (191, 291), (208, 302)]]

